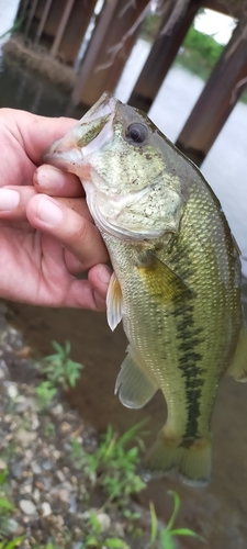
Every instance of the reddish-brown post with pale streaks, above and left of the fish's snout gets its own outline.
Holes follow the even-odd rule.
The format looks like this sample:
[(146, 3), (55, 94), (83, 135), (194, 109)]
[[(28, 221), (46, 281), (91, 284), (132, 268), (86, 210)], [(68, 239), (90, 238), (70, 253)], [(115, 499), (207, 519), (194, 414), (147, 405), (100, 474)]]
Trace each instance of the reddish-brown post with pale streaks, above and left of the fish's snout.
[[(105, 2), (72, 93), (75, 104), (82, 102), (90, 107), (103, 91), (114, 91), (136, 40), (135, 25), (148, 3), (148, 0)], [(131, 29), (133, 32), (128, 34)]]

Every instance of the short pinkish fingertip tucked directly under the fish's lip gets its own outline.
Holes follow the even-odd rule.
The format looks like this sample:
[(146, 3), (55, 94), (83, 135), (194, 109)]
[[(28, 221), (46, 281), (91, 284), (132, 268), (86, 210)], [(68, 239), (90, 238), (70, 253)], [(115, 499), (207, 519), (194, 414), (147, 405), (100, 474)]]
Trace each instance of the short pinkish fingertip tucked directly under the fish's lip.
[(49, 197), (85, 197), (83, 187), (74, 173), (65, 173), (43, 164), (36, 169), (33, 183), (37, 192)]

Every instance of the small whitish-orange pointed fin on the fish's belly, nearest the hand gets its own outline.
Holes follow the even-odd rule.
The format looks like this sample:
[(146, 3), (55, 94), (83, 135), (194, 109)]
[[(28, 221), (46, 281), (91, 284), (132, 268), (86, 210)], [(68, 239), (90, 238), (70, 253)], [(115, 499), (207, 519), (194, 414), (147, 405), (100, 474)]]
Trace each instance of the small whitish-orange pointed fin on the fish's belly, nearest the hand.
[(123, 298), (119, 280), (113, 272), (111, 276), (108, 295), (106, 295), (106, 316), (108, 324), (112, 332), (122, 321), (123, 316)]

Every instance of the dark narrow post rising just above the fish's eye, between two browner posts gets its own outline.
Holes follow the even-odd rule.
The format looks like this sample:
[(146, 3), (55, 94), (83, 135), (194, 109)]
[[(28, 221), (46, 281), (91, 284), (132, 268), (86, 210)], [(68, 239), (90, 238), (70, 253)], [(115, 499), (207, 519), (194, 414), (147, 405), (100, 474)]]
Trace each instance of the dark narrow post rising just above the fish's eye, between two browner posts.
[[(199, 0), (191, 0), (187, 11), (175, 23), (170, 32), (168, 31), (167, 34), (161, 36), (158, 35), (133, 89), (128, 104), (144, 112), (149, 111), (200, 7), (201, 2)], [(161, 21), (160, 29), (165, 26), (169, 16), (170, 13), (168, 12)]]

